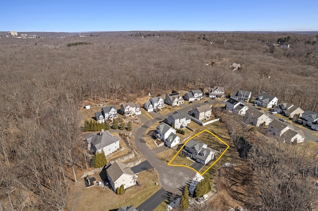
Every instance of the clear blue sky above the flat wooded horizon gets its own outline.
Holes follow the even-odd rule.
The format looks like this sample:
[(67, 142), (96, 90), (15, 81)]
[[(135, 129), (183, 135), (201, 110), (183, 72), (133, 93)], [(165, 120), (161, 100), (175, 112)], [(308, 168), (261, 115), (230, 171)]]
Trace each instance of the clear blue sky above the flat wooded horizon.
[(0, 31), (318, 31), (318, 0), (3, 0)]

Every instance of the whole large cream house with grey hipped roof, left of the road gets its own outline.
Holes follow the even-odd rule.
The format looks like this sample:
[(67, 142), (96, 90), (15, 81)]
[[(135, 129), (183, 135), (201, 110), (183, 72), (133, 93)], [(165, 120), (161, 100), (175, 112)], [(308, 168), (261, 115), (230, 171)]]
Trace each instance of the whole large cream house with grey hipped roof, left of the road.
[(101, 130), (98, 134), (94, 134), (84, 141), (88, 144), (88, 150), (93, 149), (94, 152), (103, 150), (105, 156), (119, 149), (119, 138), (109, 133), (109, 130)]

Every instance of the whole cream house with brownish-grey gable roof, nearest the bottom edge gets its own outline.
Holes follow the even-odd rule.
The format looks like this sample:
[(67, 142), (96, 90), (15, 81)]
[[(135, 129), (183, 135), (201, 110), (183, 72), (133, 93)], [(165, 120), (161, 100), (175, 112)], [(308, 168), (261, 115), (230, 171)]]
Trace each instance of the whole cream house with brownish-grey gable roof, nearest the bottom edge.
[(105, 166), (105, 170), (107, 179), (114, 191), (121, 185), (124, 185), (125, 189), (136, 185), (135, 173), (124, 163), (117, 161), (114, 163), (108, 162)]

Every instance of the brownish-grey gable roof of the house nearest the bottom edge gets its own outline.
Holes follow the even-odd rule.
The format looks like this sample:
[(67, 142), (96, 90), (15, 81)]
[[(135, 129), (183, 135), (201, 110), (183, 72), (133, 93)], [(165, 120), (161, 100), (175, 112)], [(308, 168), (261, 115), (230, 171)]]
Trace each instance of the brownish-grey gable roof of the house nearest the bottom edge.
[(130, 167), (127, 167), (126, 164), (117, 161), (114, 163), (109, 162), (105, 166), (105, 169), (113, 182), (115, 182), (124, 173), (132, 176), (135, 175)]

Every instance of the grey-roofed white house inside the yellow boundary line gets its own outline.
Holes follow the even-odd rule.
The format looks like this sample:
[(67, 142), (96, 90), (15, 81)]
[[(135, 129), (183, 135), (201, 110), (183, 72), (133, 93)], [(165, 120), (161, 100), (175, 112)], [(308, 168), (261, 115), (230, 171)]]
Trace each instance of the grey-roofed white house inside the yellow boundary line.
[(209, 148), (206, 144), (190, 139), (185, 144), (182, 154), (196, 162), (207, 164), (214, 159), (216, 152)]

